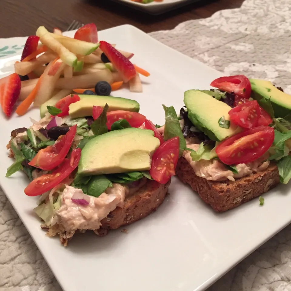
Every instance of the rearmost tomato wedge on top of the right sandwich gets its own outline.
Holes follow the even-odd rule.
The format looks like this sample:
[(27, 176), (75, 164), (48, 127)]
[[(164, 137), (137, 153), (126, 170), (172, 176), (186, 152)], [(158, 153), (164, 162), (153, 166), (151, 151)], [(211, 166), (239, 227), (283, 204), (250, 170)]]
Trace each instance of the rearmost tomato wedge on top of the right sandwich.
[(210, 86), (226, 92), (234, 92), (241, 98), (249, 99), (251, 96), (251, 83), (245, 75), (236, 75), (229, 77), (220, 77), (212, 81)]

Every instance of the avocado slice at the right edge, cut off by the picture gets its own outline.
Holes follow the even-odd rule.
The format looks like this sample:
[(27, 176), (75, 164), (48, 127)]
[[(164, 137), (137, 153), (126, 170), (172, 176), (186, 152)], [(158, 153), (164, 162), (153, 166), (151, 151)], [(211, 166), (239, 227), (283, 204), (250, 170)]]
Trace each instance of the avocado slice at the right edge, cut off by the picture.
[(291, 111), (291, 95), (277, 89), (270, 81), (249, 79), (252, 85), (251, 97), (255, 100), (270, 99), (275, 117), (285, 117)]

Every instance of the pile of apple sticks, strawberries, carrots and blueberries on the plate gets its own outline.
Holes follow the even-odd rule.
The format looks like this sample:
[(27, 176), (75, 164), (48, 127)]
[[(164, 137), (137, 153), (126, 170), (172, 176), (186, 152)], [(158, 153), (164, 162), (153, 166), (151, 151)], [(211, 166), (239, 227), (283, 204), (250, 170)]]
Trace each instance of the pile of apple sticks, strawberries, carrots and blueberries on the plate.
[(15, 73), (0, 79), (0, 105), (10, 117), (14, 108), (24, 115), (32, 104), (40, 107), (51, 100), (55, 106), (72, 93), (109, 96), (122, 87), (142, 92), (140, 74), (150, 74), (131, 62), (133, 55), (99, 41), (93, 23), (79, 28), (74, 38), (40, 26), (27, 38)]

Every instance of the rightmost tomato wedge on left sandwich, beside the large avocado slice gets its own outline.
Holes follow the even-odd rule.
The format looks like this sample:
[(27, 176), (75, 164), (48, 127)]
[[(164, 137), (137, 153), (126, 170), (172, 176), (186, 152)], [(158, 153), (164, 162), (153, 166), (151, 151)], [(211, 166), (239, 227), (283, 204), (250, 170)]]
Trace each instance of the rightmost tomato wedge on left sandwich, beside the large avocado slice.
[(150, 174), (154, 180), (166, 184), (172, 176), (179, 159), (179, 136), (168, 139), (154, 152)]

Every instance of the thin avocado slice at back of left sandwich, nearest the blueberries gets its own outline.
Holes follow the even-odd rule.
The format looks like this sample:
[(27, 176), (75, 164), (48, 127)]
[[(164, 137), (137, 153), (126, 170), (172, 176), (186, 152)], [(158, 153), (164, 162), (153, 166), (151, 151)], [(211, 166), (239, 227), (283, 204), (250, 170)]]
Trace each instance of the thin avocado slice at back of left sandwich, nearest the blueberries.
[(139, 103), (135, 100), (112, 96), (79, 95), (81, 100), (69, 106), (69, 115), (72, 118), (92, 116), (93, 105), (109, 106), (108, 112), (113, 110), (127, 110), (139, 112)]

